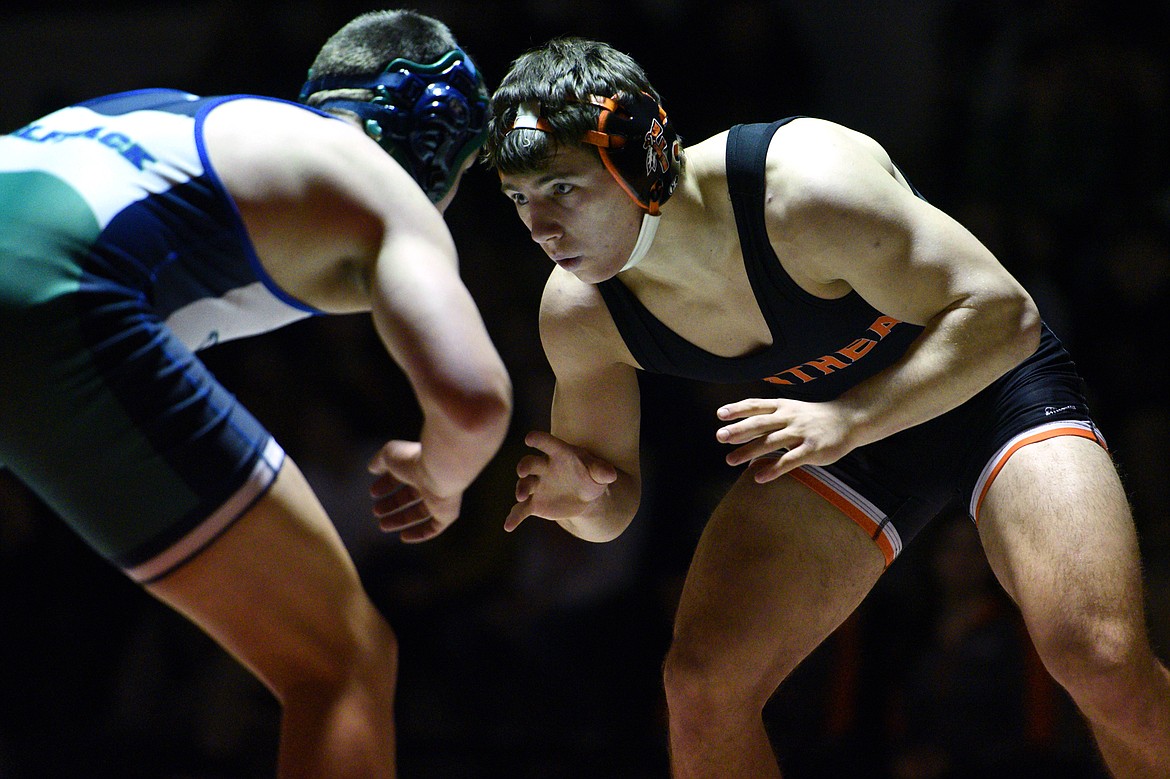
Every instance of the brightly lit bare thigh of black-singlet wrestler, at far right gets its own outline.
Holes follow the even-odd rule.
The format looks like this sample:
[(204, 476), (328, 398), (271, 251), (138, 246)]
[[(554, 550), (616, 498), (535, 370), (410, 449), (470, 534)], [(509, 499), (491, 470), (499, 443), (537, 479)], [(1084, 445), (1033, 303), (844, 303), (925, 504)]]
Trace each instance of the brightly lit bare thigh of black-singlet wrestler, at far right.
[(1069, 621), (1140, 629), (1137, 537), (1108, 453), (1078, 436), (1011, 456), (979, 512), (992, 570), (1035, 637)]

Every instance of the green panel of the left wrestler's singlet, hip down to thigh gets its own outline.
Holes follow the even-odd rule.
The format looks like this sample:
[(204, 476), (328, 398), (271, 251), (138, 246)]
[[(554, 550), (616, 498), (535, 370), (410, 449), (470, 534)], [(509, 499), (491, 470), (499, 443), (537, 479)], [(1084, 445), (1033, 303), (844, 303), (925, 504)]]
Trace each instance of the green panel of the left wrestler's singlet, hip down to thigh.
[(198, 499), (104, 384), (82, 339), (69, 294), (82, 278), (76, 257), (99, 232), (60, 179), (0, 173), (0, 463), (112, 559)]

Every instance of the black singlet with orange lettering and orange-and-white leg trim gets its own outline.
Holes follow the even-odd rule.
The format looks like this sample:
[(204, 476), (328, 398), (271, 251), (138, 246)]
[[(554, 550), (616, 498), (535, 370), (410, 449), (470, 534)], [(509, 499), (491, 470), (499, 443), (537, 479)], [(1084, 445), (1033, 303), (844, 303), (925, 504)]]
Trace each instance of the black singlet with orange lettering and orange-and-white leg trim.
[[(711, 354), (663, 325), (617, 277), (601, 282), (606, 306), (644, 370), (711, 382), (758, 379), (762, 397), (825, 401), (896, 361), (922, 332), (885, 316), (855, 291), (819, 298), (785, 273), (764, 225), (764, 170), (773, 133), (792, 118), (736, 125), (727, 144), (744, 266), (772, 345), (743, 357)], [(1045, 325), (1035, 353), (958, 408), (793, 476), (869, 532), (888, 564), (944, 510), (966, 503), (977, 518), (978, 498), (1014, 450), (1011, 444), (1052, 435), (1103, 443), (1082, 381)]]

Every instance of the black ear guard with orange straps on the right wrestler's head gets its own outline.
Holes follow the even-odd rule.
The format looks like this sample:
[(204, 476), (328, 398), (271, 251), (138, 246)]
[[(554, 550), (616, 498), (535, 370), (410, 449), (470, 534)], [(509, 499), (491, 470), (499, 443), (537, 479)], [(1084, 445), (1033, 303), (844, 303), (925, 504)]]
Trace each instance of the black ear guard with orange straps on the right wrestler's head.
[(682, 142), (658, 101), (639, 92), (589, 102), (601, 113), (581, 138), (598, 147), (601, 163), (639, 207), (652, 216), (674, 194), (682, 171)]

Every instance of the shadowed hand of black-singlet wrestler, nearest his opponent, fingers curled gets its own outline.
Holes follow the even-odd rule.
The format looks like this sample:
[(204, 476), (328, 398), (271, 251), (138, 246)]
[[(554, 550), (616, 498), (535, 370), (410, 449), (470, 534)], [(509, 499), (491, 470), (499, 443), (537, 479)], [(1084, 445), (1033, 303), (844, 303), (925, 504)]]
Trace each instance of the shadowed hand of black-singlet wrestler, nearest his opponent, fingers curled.
[(580, 447), (550, 433), (535, 430), (524, 443), (538, 450), (516, 464), (516, 505), (504, 519), (511, 532), (526, 517), (572, 519), (605, 494), (618, 478), (618, 469)]

